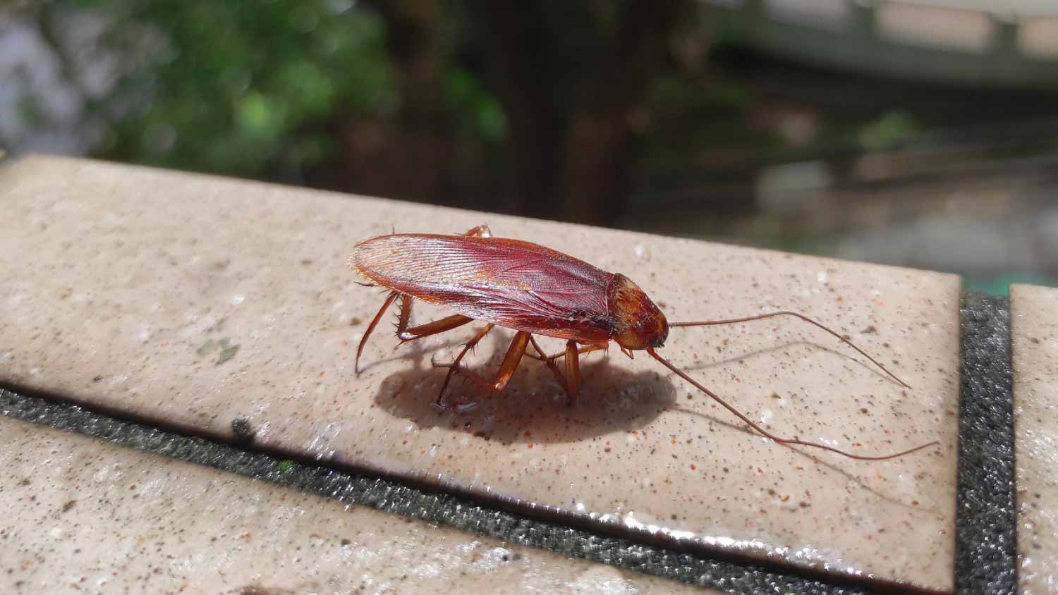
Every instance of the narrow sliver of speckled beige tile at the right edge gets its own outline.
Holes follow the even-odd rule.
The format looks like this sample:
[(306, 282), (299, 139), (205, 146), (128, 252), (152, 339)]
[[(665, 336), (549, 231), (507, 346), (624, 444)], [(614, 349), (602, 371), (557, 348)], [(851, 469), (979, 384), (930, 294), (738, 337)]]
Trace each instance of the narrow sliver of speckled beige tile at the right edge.
[(1058, 593), (1058, 290), (1010, 286), (1018, 583)]

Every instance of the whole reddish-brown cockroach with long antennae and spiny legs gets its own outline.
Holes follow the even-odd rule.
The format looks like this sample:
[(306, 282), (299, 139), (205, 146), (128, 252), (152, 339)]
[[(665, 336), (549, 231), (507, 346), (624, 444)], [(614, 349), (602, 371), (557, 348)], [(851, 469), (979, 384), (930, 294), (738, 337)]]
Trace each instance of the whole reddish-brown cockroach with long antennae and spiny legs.
[[(459, 374), (490, 390), (501, 392), (523, 356), (546, 364), (572, 403), (580, 391), (580, 356), (606, 350), (609, 341), (615, 341), (628, 357), (634, 357), (636, 351), (645, 350), (674, 374), (777, 443), (821, 448), (864, 461), (902, 457), (940, 444), (934, 441), (894, 454), (868, 457), (825, 444), (780, 438), (755, 424), (656, 351), (664, 346), (671, 328), (733, 324), (773, 316), (791, 316), (834, 335), (884, 371), (894, 382), (911, 388), (852, 341), (797, 312), (770, 312), (725, 320), (669, 322), (639, 285), (624, 275), (607, 273), (539, 244), (494, 238), (487, 225), (478, 225), (462, 235), (390, 234), (369, 238), (353, 248), (349, 266), (369, 281), (366, 284), (381, 285), (389, 291), (357, 348), (357, 374), (360, 373), (360, 356), (368, 337), (398, 298), (399, 345), (451, 331), (472, 320), (485, 322), (451, 364), (432, 360), (434, 367), (449, 370), (435, 402), (441, 407), (444, 407), (444, 391), (454, 375)], [(408, 328), (412, 303), (416, 299), (444, 306), (455, 314)], [(516, 333), (499, 371), (494, 377), (486, 378), (460, 362), (467, 352), (495, 327), (511, 329)], [(533, 335), (566, 339), (566, 349), (547, 355)], [(528, 351), (529, 346), (532, 346), (535, 354)], [(558, 365), (559, 359), (565, 360), (565, 371)]]

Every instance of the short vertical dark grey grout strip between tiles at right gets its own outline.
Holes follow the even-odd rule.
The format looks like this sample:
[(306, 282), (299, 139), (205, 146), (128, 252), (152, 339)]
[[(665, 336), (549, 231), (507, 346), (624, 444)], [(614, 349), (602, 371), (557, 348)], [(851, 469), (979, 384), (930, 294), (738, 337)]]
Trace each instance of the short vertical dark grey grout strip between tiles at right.
[(964, 295), (960, 327), (955, 593), (1016, 593), (1009, 299)]

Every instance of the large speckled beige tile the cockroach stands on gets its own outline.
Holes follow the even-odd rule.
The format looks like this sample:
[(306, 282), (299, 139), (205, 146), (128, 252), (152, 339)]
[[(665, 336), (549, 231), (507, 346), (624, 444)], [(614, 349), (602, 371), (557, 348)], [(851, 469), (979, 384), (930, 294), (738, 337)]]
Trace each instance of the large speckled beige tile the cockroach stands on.
[[(0, 380), (211, 435), (237, 422), (266, 447), (631, 532), (951, 589), (953, 276), (40, 157), (3, 172), (0, 204)], [(628, 275), (670, 320), (818, 317), (914, 389), (796, 320), (673, 329), (660, 352), (777, 433), (874, 454), (941, 446), (884, 462), (777, 446), (616, 350), (582, 361), (572, 408), (527, 361), (503, 396), (456, 384), (476, 407), (440, 413), (430, 358), (450, 359), (467, 329), (394, 352), (380, 328), (354, 376), (381, 295), (345, 267), (353, 243), (482, 222)], [(495, 366), (509, 339), (490, 335), (471, 365)]]

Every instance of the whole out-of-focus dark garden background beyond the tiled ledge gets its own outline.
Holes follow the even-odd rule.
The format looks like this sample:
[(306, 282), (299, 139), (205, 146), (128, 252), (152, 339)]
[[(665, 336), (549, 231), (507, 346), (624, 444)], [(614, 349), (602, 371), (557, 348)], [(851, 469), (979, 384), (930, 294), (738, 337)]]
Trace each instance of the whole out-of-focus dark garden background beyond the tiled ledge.
[(0, 147), (1058, 279), (1043, 0), (0, 7)]

